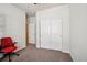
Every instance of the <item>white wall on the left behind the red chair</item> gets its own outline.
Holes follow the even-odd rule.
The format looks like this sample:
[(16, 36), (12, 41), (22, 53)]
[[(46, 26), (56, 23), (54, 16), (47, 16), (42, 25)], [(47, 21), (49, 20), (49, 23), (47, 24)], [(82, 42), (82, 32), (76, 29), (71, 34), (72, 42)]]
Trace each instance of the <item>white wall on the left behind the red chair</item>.
[(11, 6), (0, 4), (0, 13), (6, 17), (6, 34), (18, 42), (19, 50), (25, 47), (25, 12)]

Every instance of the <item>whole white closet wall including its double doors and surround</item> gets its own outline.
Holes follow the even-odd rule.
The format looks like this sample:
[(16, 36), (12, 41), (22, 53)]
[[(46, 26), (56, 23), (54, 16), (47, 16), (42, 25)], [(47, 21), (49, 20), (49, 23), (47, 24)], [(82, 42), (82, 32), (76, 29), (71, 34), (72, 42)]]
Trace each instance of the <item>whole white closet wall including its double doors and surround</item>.
[(69, 53), (69, 7), (36, 12), (36, 47)]

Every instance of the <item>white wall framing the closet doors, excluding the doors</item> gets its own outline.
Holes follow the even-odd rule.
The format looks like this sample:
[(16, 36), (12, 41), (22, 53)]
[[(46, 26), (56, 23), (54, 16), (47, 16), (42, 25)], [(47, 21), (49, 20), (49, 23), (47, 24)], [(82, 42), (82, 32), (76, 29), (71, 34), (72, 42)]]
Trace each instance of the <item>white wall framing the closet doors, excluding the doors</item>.
[[(36, 47), (40, 47), (40, 21), (50, 18), (63, 20), (63, 52), (69, 53), (69, 7), (61, 6), (36, 12)], [(48, 18), (47, 17), (47, 18)]]

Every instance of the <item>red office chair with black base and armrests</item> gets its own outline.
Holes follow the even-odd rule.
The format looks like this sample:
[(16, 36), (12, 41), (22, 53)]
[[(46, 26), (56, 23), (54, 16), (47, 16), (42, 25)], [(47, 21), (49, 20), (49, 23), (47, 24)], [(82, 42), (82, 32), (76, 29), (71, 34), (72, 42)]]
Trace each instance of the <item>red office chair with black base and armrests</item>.
[(12, 42), (11, 37), (2, 37), (1, 39), (1, 45), (0, 45), (0, 53), (3, 53), (3, 59), (7, 55), (9, 55), (9, 62), (11, 62), (11, 55), (15, 54), (19, 56), (19, 54), (14, 53), (14, 51), (18, 48), (14, 46), (17, 42)]

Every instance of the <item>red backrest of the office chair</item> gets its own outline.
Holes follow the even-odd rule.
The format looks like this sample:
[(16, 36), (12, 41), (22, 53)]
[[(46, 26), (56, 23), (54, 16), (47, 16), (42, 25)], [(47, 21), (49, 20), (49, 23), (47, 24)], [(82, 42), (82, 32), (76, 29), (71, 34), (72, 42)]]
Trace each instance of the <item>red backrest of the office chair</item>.
[(7, 46), (12, 46), (12, 39), (11, 37), (2, 37), (1, 39), (1, 46), (7, 47)]

